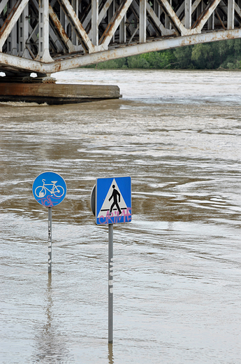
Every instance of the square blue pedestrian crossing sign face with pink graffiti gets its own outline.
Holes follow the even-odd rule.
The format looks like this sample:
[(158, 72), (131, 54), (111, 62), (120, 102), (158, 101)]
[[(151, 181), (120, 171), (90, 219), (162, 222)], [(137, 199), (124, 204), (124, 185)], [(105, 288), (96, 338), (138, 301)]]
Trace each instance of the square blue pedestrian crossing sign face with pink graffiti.
[(96, 224), (131, 222), (131, 177), (96, 179)]

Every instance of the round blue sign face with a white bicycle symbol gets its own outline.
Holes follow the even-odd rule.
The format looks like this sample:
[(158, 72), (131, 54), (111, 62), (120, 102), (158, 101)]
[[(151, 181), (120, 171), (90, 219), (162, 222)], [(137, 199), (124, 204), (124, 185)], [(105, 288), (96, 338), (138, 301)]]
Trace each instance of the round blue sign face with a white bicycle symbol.
[(67, 186), (64, 179), (57, 173), (41, 173), (33, 184), (35, 200), (45, 206), (53, 207), (64, 200)]

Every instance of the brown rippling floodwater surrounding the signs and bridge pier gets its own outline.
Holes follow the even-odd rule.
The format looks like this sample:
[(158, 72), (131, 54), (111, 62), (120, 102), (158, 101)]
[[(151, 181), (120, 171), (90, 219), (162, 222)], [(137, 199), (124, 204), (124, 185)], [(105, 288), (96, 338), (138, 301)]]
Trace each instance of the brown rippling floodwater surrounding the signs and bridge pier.
[[(58, 83), (119, 85), (122, 99), (0, 104), (0, 363), (241, 363), (241, 73), (101, 71)], [(68, 193), (52, 211), (32, 183)], [(108, 228), (96, 178), (131, 176), (132, 222)]]

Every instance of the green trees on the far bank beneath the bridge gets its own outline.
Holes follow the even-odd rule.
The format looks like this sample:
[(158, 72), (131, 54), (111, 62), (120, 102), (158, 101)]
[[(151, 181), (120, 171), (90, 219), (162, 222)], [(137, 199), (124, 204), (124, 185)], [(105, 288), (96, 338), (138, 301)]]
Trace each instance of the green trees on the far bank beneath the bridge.
[(241, 69), (241, 39), (189, 45), (92, 64), (96, 69)]

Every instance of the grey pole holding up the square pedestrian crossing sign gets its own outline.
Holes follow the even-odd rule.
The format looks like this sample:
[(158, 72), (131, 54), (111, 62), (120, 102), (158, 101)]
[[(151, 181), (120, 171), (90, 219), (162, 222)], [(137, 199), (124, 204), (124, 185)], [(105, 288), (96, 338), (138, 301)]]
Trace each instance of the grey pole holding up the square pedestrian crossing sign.
[(108, 264), (108, 342), (113, 342), (113, 224), (108, 225), (109, 264)]

